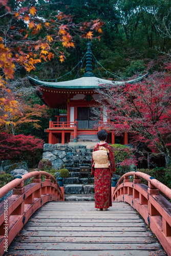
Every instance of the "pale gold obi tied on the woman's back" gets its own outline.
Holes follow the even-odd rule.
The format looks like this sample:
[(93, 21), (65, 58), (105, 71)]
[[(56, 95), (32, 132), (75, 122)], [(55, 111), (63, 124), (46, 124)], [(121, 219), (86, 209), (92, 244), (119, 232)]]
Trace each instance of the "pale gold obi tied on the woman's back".
[(93, 161), (95, 168), (109, 168), (109, 150), (103, 146), (99, 146), (99, 150), (93, 152)]

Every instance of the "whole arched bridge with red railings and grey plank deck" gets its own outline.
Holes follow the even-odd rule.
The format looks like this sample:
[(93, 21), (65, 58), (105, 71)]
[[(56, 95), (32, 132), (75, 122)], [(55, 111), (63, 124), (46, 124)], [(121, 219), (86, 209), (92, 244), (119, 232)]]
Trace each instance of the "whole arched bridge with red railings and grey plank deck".
[(11, 181), (0, 198), (11, 189), (13, 195), (0, 204), (0, 255), (171, 256), (171, 203), (160, 195), (171, 199), (171, 190), (146, 174), (122, 176), (108, 211), (97, 211), (94, 202), (63, 201), (64, 188), (46, 172)]

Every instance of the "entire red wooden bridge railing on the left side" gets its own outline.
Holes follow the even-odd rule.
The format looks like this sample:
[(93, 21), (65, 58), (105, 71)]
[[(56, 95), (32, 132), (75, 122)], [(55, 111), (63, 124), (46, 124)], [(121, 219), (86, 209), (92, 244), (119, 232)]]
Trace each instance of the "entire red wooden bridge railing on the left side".
[[(42, 175), (46, 176), (44, 182)], [(32, 177), (33, 183), (24, 186), (24, 181)], [(13, 195), (0, 203), (0, 255), (38, 208), (49, 201), (64, 201), (64, 188), (47, 172), (35, 171), (16, 178), (0, 188), (0, 198), (12, 189)]]

